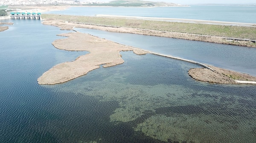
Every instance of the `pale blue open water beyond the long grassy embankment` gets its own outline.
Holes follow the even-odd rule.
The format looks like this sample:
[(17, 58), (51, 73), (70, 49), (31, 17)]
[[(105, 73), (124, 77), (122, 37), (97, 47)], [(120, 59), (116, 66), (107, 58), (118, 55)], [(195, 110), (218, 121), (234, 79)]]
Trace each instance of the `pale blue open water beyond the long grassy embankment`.
[(86, 15), (97, 14), (164, 17), (195, 20), (256, 23), (256, 6), (190, 6), (190, 7), (70, 7), (52, 14)]

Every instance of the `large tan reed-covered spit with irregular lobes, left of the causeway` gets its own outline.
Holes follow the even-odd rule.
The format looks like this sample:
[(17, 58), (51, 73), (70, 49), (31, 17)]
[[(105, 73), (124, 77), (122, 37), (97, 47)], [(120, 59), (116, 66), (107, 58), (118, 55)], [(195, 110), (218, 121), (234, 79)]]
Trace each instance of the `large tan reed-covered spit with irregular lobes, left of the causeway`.
[(90, 53), (79, 56), (73, 62), (55, 65), (38, 78), (39, 84), (58, 84), (69, 81), (99, 68), (101, 64), (103, 64), (103, 67), (122, 64), (124, 61), (121, 58), (120, 51), (133, 50), (137, 54), (147, 53), (90, 34), (75, 32), (60, 34), (59, 36), (67, 36), (67, 38), (52, 42), (55, 48), (70, 51), (89, 51)]

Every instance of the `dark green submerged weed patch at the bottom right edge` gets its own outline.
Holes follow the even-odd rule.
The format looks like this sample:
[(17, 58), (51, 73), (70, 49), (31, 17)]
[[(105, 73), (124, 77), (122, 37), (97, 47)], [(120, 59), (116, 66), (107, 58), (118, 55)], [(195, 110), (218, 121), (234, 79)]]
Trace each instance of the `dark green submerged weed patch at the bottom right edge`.
[[(227, 118), (220, 121), (212, 115), (175, 114), (170, 117), (151, 116), (138, 124), (135, 131), (168, 143), (215, 143), (217, 140), (221, 143), (235, 143), (237, 140), (246, 142), (241, 137), (243, 132), (237, 132), (240, 126), (240, 123), (230, 123)], [(229, 133), (235, 136), (231, 137)]]

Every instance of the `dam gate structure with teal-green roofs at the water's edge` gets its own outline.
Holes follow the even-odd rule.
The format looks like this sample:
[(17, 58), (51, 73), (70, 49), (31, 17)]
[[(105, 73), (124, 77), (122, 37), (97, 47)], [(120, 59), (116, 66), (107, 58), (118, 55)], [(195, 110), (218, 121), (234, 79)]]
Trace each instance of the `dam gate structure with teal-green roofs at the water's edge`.
[(35, 12), (11, 12), (10, 17), (12, 19), (36, 19), (40, 20), (41, 19), (41, 13), (35, 13)]

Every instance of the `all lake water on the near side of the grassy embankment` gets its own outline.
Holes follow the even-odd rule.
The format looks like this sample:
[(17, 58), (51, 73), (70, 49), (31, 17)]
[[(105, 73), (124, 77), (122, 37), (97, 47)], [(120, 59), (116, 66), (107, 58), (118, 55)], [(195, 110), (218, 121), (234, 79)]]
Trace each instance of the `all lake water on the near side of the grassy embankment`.
[[(121, 52), (123, 64), (63, 84), (39, 85), (37, 78), (49, 68), (87, 52), (51, 45), (65, 38), (56, 34), (71, 31), (39, 20), (2, 21), (14, 25), (0, 32), (1, 143), (256, 142), (255, 85), (198, 82), (187, 74), (198, 65), (132, 52)], [(79, 31), (198, 62), (213, 55), (207, 63), (224, 66), (235, 60), (229, 68), (256, 71), (255, 48)]]

